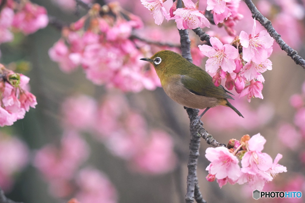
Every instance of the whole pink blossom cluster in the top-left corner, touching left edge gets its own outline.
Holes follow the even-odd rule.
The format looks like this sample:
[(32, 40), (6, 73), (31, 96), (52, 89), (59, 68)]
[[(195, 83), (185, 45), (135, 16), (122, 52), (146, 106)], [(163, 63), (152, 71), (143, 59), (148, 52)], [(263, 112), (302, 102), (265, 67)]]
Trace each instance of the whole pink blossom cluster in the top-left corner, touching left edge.
[(48, 25), (44, 7), (30, 1), (8, 0), (0, 13), (0, 43), (13, 40), (12, 31), (32, 34)]

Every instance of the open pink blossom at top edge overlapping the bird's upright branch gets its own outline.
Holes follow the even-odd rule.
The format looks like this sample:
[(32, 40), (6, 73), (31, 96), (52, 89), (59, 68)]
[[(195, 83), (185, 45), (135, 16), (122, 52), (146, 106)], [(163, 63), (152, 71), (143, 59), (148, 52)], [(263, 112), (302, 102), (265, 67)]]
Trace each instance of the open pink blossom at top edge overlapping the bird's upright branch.
[(173, 12), (175, 16), (171, 18), (175, 19), (178, 29), (195, 29), (202, 25), (210, 27), (209, 20), (207, 20), (202, 11), (198, 10), (199, 1), (197, 1), (196, 5), (192, 0), (183, 0), (183, 3), (185, 8), (176, 9)]

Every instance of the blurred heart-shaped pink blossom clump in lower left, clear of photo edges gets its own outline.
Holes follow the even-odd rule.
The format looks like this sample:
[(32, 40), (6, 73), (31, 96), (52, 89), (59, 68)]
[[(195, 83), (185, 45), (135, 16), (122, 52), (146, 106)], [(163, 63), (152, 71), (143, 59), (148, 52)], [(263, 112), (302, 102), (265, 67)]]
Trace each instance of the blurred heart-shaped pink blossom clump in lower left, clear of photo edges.
[(88, 155), (87, 143), (77, 133), (69, 131), (63, 134), (60, 148), (48, 144), (39, 149), (34, 166), (48, 181), (70, 180)]

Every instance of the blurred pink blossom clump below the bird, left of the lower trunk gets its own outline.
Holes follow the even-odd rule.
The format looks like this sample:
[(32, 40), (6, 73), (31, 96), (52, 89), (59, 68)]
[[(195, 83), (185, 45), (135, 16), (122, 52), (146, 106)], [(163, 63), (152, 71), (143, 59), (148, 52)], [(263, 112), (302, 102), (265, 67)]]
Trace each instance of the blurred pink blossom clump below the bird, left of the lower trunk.
[(131, 168), (147, 174), (166, 173), (174, 169), (176, 157), (172, 138), (162, 131), (153, 131), (149, 142), (131, 160)]

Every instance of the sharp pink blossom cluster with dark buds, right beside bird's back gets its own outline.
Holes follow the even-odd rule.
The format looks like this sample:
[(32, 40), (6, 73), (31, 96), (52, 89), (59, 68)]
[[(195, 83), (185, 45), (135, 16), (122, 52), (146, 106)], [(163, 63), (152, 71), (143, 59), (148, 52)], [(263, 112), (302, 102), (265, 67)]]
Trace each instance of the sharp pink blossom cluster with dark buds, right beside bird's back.
[(214, 84), (219, 86), (221, 80), (226, 78), (228, 90), (235, 87), (239, 98), (246, 96), (249, 102), (252, 97), (263, 98), (265, 80), (261, 73), (272, 69), (268, 57), (272, 53), (274, 39), (266, 30), (256, 34), (255, 29), (254, 20), (252, 33), (241, 31), (231, 45), (223, 45), (216, 37), (210, 38), (212, 46), (199, 45), (200, 51), (209, 57), (206, 71), (213, 75)]

